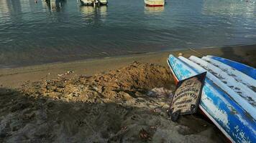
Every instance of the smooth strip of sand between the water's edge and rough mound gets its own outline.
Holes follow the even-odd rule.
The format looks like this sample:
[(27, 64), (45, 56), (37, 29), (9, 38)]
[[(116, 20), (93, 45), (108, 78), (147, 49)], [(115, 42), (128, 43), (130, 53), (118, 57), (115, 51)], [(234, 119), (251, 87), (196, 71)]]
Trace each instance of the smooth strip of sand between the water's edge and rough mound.
[[(229, 46), (229, 47), (206, 47), (204, 49), (183, 49), (177, 51), (160, 51), (143, 54), (130, 54), (126, 56), (114, 56), (103, 59), (85, 59), (70, 62), (58, 62), (40, 64), (35, 66), (22, 66), (17, 68), (0, 69), (0, 86), (8, 88), (20, 87), (25, 82), (35, 82), (42, 79), (54, 79), (56, 77), (78, 77), (81, 74), (99, 74), (111, 69), (118, 69), (122, 66), (139, 61), (143, 64), (152, 63), (161, 66), (168, 66), (166, 59), (169, 54), (178, 56), (205, 56), (207, 54), (221, 56), (224, 58), (239, 61), (249, 66), (256, 66), (256, 45)], [(72, 71), (72, 74), (58, 76)]]

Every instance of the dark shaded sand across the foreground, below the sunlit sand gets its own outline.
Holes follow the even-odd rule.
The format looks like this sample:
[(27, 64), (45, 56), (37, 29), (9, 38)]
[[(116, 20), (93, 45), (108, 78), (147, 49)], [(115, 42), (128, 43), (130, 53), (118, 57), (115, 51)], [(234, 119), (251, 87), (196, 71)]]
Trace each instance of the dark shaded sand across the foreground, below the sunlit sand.
[(132, 104), (63, 102), (0, 90), (0, 142), (224, 142), (218, 129), (198, 116), (181, 117), (177, 124), (161, 108), (152, 112)]

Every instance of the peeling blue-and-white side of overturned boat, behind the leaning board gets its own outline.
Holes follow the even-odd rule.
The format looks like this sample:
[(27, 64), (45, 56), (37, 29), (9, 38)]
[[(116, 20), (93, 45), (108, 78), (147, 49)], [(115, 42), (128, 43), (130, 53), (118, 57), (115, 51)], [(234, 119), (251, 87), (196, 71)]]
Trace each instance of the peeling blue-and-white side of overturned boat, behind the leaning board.
[[(168, 64), (174, 79), (178, 81), (200, 74), (192, 66), (173, 55), (169, 56)], [(256, 142), (255, 119), (248, 116), (227, 92), (207, 77), (199, 108), (231, 142)]]

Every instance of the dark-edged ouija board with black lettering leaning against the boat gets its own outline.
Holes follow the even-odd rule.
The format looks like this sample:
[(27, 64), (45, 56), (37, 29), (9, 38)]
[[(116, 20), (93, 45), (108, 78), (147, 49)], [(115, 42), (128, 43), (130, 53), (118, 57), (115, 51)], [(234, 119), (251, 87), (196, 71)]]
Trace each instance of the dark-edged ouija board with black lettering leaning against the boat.
[(178, 82), (169, 109), (173, 121), (177, 121), (179, 115), (197, 111), (205, 77), (206, 72)]

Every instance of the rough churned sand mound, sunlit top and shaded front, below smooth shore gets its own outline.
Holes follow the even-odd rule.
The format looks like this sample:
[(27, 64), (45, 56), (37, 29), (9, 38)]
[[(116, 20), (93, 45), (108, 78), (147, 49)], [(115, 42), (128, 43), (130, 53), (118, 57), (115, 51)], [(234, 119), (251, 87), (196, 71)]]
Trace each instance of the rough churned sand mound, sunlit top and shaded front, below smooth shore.
[(223, 141), (201, 118), (168, 119), (172, 81), (165, 67), (134, 62), (91, 77), (1, 89), (0, 142)]

